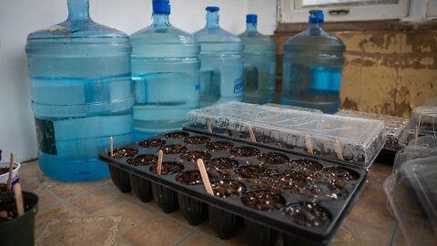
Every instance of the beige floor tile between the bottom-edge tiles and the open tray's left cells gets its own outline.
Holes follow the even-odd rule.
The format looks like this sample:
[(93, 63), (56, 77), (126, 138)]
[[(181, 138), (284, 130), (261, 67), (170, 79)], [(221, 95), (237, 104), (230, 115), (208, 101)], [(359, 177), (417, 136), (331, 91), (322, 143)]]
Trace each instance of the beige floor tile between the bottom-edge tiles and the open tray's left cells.
[(96, 216), (120, 216), (122, 218), (120, 228), (122, 231), (128, 231), (141, 222), (156, 216), (154, 212), (147, 210), (132, 201), (124, 200), (114, 205), (98, 210)]

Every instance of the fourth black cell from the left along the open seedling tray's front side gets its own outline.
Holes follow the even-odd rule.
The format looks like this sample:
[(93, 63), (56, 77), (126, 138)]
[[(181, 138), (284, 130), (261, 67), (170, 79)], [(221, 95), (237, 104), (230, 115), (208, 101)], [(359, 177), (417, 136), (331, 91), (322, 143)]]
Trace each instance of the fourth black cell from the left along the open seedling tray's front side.
[(182, 215), (190, 225), (197, 226), (207, 219), (208, 206), (200, 200), (179, 193), (178, 203)]

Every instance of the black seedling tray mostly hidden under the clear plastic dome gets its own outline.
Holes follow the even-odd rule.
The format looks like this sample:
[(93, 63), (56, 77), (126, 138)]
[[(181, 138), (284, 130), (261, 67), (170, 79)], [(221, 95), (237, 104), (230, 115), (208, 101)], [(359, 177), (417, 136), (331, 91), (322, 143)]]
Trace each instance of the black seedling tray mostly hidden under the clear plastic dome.
[[(341, 160), (338, 159), (337, 154), (335, 153), (327, 153), (327, 154), (316, 153), (315, 155), (311, 155), (303, 147), (290, 146), (286, 143), (280, 142), (279, 140), (275, 138), (271, 138), (269, 136), (264, 136), (264, 135), (256, 136), (257, 142), (253, 142), (250, 138), (249, 132), (247, 131), (244, 132), (244, 131), (230, 130), (228, 128), (212, 128), (212, 133), (210, 133), (208, 132), (207, 125), (200, 124), (200, 123), (188, 123), (184, 125), (183, 129), (191, 132), (198, 132), (201, 134), (229, 138), (235, 141), (243, 141), (249, 144), (257, 145), (259, 147), (278, 149), (280, 151), (286, 151), (300, 156), (306, 156), (309, 158), (325, 159), (327, 161), (338, 163), (343, 166), (363, 169), (366, 171), (371, 169), (371, 164), (373, 164), (374, 159), (376, 159), (378, 156), (378, 155), (374, 155), (373, 159), (369, 162), (365, 162), (364, 160), (362, 160), (364, 158), (362, 158), (361, 160), (351, 160), (345, 157), (345, 160)], [(381, 149), (383, 148), (383, 146), (384, 145), (381, 145)], [(378, 149), (377, 152), (379, 153), (381, 149)]]

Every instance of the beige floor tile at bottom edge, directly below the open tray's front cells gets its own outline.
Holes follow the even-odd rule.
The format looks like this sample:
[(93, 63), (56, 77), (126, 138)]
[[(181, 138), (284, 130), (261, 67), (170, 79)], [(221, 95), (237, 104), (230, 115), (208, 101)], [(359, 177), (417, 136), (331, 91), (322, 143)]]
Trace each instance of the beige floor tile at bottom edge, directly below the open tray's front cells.
[(125, 241), (132, 245), (167, 246), (188, 236), (191, 231), (162, 216), (138, 225), (123, 235)]

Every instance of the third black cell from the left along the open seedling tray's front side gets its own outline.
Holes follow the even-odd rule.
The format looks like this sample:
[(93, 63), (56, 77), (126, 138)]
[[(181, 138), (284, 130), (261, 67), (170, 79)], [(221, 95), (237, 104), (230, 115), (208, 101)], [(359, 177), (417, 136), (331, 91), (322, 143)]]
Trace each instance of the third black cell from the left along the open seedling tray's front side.
[(178, 210), (178, 193), (158, 183), (152, 183), (153, 200), (165, 213)]

